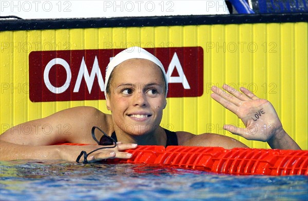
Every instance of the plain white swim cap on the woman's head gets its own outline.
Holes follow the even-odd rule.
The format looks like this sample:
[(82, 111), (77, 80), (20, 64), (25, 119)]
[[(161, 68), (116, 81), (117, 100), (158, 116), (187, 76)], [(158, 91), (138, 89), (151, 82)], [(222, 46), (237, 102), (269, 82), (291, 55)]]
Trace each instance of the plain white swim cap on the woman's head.
[(167, 96), (167, 92), (168, 92), (168, 82), (167, 82), (167, 76), (166, 76), (166, 72), (164, 69), (164, 66), (162, 64), (162, 62), (160, 62), (160, 60), (158, 58), (156, 58), (154, 55), (152, 55), (151, 53), (149, 53), (148, 51), (140, 48), (140, 47), (131, 47), (131, 48), (127, 48), (125, 50), (123, 50), (122, 52), (120, 52), (119, 54), (115, 55), (113, 57), (113, 59), (109, 62), (109, 64), (107, 65), (106, 68), (106, 77), (105, 77), (105, 97), (107, 99), (107, 85), (108, 85), (108, 80), (110, 77), (110, 74), (112, 73), (113, 69), (115, 67), (117, 67), (120, 63), (122, 63), (123, 61), (126, 61), (128, 59), (147, 59), (150, 60), (152, 62), (154, 62), (155, 64), (157, 64), (164, 75), (165, 78), (165, 83), (166, 83), (166, 95)]

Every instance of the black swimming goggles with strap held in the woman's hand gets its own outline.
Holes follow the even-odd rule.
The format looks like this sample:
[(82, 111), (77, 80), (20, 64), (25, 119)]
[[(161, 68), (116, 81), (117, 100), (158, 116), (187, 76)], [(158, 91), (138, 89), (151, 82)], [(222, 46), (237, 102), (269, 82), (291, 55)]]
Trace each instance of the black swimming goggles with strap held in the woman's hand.
[[(95, 131), (95, 128), (100, 130), (102, 133), (103, 133), (103, 137), (101, 138), (100, 142), (98, 141), (98, 139), (95, 137), (95, 134), (94, 134), (94, 131)], [(87, 153), (86, 151), (81, 151), (79, 156), (77, 157), (76, 159), (76, 162), (79, 163), (82, 155), (84, 156), (84, 160), (83, 160), (83, 163), (84, 164), (87, 164), (89, 163), (87, 158), (88, 158), (88, 155), (90, 155), (91, 153), (95, 152), (95, 151), (98, 151), (100, 149), (109, 149), (109, 148), (114, 148), (117, 146), (117, 142), (111, 138), (110, 136), (108, 136), (101, 128), (97, 127), (97, 126), (93, 126), (92, 127), (92, 130), (91, 130), (91, 133), (92, 133), (92, 138), (95, 140), (95, 142), (98, 143), (98, 145), (104, 145), (104, 146), (108, 146), (108, 147), (101, 147), (101, 148), (98, 148), (98, 149), (94, 149), (93, 151)]]

